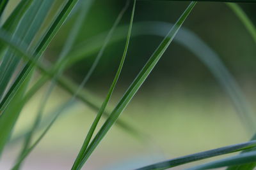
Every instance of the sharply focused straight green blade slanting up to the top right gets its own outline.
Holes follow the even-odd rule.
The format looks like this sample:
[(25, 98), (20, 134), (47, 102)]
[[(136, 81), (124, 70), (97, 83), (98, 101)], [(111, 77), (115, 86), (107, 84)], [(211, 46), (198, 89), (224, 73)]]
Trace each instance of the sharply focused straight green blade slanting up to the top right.
[(176, 22), (176, 24), (170, 30), (170, 32), (168, 32), (167, 36), (163, 39), (163, 41), (161, 42), (159, 47), (156, 49), (156, 51), (153, 53), (153, 55), (150, 57), (150, 59), (145, 64), (143, 69), (141, 69), (140, 73), (135, 78), (135, 80), (132, 82), (132, 84), (129, 87), (129, 89), (127, 90), (127, 92), (125, 92), (125, 94), (122, 97), (122, 99), (120, 100), (120, 102), (116, 105), (116, 108), (113, 110), (113, 112), (111, 113), (109, 118), (106, 120), (104, 125), (102, 125), (102, 127), (100, 128), (99, 132), (93, 139), (92, 143), (90, 143), (90, 145), (86, 149), (86, 152), (84, 153), (83, 160), (82, 160), (81, 164), (79, 164), (78, 169), (81, 169), (84, 162), (86, 162), (88, 157), (92, 154), (93, 150), (95, 150), (97, 145), (99, 145), (102, 138), (104, 138), (104, 136), (109, 131), (109, 129), (112, 127), (112, 125), (115, 123), (115, 121), (120, 116), (122, 111), (124, 111), (125, 107), (131, 101), (132, 97), (136, 94), (138, 89), (140, 89), (141, 85), (147, 78), (148, 74), (150, 74), (150, 72), (152, 71), (154, 66), (156, 66), (157, 61), (162, 57), (166, 48), (168, 48), (168, 46), (172, 42), (173, 38), (179, 31), (181, 25), (183, 24), (184, 20), (186, 20), (186, 18), (188, 17), (189, 13), (191, 12), (191, 10), (195, 6), (195, 4), (196, 4), (196, 2), (191, 2), (189, 4), (188, 8), (184, 11), (184, 13), (181, 15), (179, 20)]

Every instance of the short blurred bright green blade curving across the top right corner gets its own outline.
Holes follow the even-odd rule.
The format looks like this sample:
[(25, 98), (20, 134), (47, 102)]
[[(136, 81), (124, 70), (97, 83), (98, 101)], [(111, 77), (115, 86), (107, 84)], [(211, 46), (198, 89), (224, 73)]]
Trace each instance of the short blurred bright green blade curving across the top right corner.
[(253, 41), (256, 43), (256, 28), (253, 25), (253, 23), (250, 20), (250, 18), (248, 18), (246, 13), (243, 11), (243, 9), (238, 4), (235, 4), (235, 3), (226, 3), (226, 4), (227, 4), (228, 7), (230, 7), (230, 9), (232, 11), (234, 11), (234, 13), (239, 18), (239, 20), (241, 20), (241, 22), (243, 22), (243, 24), (246, 27), (247, 31), (252, 36)]

